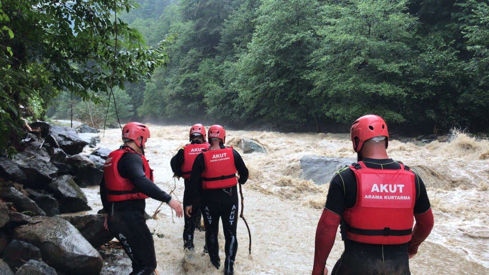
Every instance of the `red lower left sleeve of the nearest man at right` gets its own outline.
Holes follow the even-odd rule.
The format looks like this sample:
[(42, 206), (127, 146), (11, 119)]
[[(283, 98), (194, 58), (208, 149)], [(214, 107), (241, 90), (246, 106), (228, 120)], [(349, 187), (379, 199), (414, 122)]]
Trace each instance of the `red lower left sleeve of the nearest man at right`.
[(326, 260), (333, 248), (340, 220), (341, 217), (336, 213), (327, 209), (323, 210), (316, 228), (312, 275), (323, 275)]

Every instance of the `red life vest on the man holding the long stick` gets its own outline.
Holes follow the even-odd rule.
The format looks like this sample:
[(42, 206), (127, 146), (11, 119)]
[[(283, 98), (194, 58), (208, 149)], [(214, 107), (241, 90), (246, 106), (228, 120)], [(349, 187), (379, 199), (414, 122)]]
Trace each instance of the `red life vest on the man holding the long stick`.
[(228, 188), (238, 184), (232, 147), (202, 153), (205, 163), (201, 174), (203, 189)]

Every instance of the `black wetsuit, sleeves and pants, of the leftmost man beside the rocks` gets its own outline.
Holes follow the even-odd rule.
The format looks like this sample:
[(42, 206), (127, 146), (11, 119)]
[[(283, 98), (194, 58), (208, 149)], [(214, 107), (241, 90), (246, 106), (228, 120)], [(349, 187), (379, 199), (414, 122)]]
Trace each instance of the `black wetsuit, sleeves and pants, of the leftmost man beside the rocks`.
[[(123, 178), (130, 179), (143, 194), (166, 203), (172, 200), (170, 195), (146, 177), (143, 160), (138, 154), (124, 154), (117, 164), (117, 171)], [(130, 275), (152, 274), (156, 269), (156, 254), (153, 236), (144, 219), (145, 200), (108, 202), (104, 179), (100, 183), (100, 198), (104, 211), (109, 214), (109, 231), (131, 258), (133, 272)]]

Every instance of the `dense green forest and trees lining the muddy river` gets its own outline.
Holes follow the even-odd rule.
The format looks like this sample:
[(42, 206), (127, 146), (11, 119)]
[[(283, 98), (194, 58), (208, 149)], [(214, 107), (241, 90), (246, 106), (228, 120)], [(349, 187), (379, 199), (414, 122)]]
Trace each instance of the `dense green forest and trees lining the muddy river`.
[(1, 0), (2, 127), (104, 117), (112, 90), (123, 121), (489, 130), (487, 0), (58, 3)]

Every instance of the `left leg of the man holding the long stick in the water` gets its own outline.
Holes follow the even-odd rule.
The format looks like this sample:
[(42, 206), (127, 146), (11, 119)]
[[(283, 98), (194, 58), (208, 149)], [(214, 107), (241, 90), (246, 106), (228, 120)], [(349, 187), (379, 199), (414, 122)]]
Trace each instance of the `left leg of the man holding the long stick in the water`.
[(217, 190), (203, 190), (201, 197), (200, 210), (204, 217), (205, 225), (205, 246), (212, 264), (219, 269), (221, 258), (219, 257), (219, 201), (220, 198), (214, 196)]

